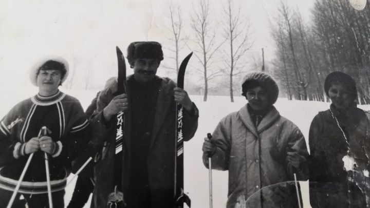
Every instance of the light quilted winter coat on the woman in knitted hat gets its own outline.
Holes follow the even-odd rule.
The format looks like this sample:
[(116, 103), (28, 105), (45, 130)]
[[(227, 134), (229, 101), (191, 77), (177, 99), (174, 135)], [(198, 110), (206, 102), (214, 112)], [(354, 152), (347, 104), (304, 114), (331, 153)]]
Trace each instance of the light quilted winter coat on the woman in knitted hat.
[[(212, 168), (229, 171), (228, 208), (234, 208), (238, 199), (248, 199), (261, 187), (294, 180), (293, 172), (298, 180), (307, 180), (307, 165), (302, 163), (302, 168), (295, 169), (287, 160), (287, 151), (307, 158), (305, 139), (300, 129), (280, 116), (275, 107), (256, 128), (245, 105), (219, 122), (212, 140), (217, 146)], [(208, 168), (206, 154), (203, 161)], [(261, 193), (253, 195), (254, 199), (257, 194)], [(266, 205), (257, 200), (253, 207)]]

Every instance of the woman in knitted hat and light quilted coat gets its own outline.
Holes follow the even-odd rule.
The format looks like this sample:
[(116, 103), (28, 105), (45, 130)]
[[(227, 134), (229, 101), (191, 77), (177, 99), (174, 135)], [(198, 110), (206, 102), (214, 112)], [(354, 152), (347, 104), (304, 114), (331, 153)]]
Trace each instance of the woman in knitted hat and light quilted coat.
[(273, 106), (279, 88), (269, 75), (247, 74), (242, 89), (248, 103), (205, 138), (203, 162), (208, 168), (211, 156), (213, 169), (229, 171), (228, 208), (298, 207), (294, 186), (269, 185), (294, 180), (294, 173), (307, 180), (305, 139)]

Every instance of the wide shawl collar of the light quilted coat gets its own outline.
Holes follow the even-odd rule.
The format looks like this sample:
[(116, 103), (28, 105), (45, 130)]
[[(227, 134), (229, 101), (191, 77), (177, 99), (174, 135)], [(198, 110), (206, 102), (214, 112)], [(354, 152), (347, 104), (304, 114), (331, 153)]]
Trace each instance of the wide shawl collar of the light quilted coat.
[(251, 115), (247, 109), (247, 104), (242, 107), (239, 110), (239, 116), (242, 119), (244, 125), (251, 131), (251, 133), (256, 136), (257, 138), (259, 137), (258, 135), (270, 127), (276, 120), (280, 118), (279, 111), (276, 110), (274, 106), (272, 106), (271, 110), (266, 114), (265, 117), (263, 117), (261, 123), (256, 127), (253, 124)]

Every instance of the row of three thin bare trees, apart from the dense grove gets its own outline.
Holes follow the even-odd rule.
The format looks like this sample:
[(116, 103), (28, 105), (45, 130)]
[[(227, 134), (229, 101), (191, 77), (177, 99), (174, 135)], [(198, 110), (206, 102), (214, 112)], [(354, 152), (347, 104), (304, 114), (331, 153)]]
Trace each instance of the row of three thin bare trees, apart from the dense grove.
[(174, 54), (170, 58), (175, 61), (178, 71), (181, 61), (179, 51), (183, 48), (180, 42), (194, 52), (193, 56), (201, 66), (194, 70), (202, 77), (203, 82), (197, 90), (204, 91), (204, 101), (207, 101), (209, 82), (217, 77), (228, 77), (230, 101), (234, 102), (233, 85), (243, 73), (245, 54), (252, 46), (249, 20), (242, 14), (240, 5), (235, 4), (233, 0), (225, 0), (224, 3), (223, 11), (219, 12), (220, 22), (213, 18), (209, 0), (199, 0), (193, 5), (191, 37), (184, 37), (182, 34), (184, 23), (180, 7), (169, 5), (170, 41), (174, 46), (170, 49)]

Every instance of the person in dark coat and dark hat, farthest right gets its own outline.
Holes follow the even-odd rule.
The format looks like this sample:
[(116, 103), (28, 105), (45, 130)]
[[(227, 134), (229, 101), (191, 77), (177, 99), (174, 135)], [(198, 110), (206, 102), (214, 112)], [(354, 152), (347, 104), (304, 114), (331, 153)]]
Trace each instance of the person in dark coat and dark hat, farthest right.
[(369, 122), (357, 108), (356, 83), (343, 72), (325, 79), (328, 110), (313, 118), (309, 130), (310, 203), (316, 207), (366, 207)]

